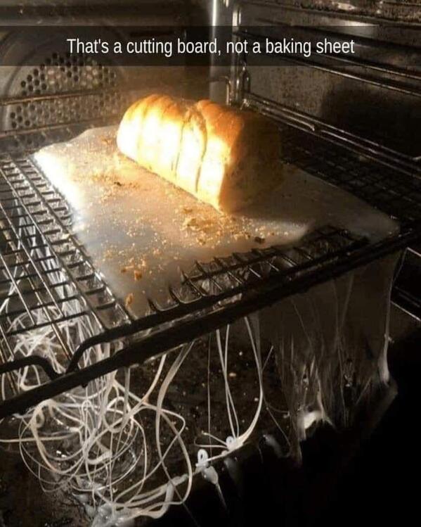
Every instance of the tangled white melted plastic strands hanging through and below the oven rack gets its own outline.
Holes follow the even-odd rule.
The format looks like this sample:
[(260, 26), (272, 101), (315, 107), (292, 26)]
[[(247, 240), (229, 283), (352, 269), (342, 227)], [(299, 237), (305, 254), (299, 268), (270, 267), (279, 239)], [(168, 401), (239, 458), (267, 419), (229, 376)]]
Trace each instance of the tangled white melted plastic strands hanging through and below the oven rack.
[[(25, 227), (22, 227), (20, 235), (24, 236), (25, 232)], [(36, 249), (30, 253), (32, 258), (42, 256)], [(54, 270), (51, 260), (42, 261), (41, 266), (50, 284), (65, 281), (65, 274)], [(24, 272), (18, 266), (13, 269), (13, 279), (18, 286)], [(66, 286), (60, 286), (55, 291), (58, 300), (65, 300)], [(10, 293), (15, 293), (13, 285)], [(15, 357), (41, 354), (57, 372), (64, 372), (67, 357), (63, 355), (63, 343), (72, 350), (76, 343), (101, 331), (96, 319), (89, 316), (72, 317), (66, 324), (61, 324), (60, 329), (48, 324), (56, 316), (67, 317), (80, 312), (79, 300), (58, 305), (61, 313), (57, 307), (51, 306), (46, 311), (41, 308), (32, 311), (35, 324), (41, 327), (15, 336)], [(12, 310), (10, 298), (6, 298), (0, 305), (0, 312), (8, 313)], [(29, 317), (23, 312), (11, 321), (10, 328), (25, 329), (28, 322)], [(166, 374), (164, 367), (168, 365), (169, 357), (162, 355), (153, 381), (142, 395), (136, 393), (138, 386), (132, 386), (131, 369), (124, 369), (122, 372), (123, 383), (119, 381), (117, 372), (108, 374), (92, 381), (86, 388), (63, 393), (55, 399), (39, 403), (25, 414), (15, 415), (11, 419), (15, 436), (0, 437), (0, 443), (18, 445), (27, 468), (39, 478), (45, 492), (55, 492), (60, 488), (79, 497), (86, 512), (93, 517), (93, 525), (98, 527), (122, 525), (137, 516), (162, 516), (171, 504), (186, 502), (193, 476), (200, 472), (216, 485), (224, 502), (216, 471), (209, 466), (209, 462), (227, 455), (250, 438), (264, 402), (259, 338), (252, 330), (250, 320), (245, 318), (244, 322), (259, 383), (259, 398), (254, 414), (248, 426), (242, 430), (228, 376), (231, 335), (230, 326), (227, 326), (224, 338), (221, 331), (216, 331), (216, 345), (231, 435), (220, 438), (212, 433), (211, 394), (208, 386), (208, 430), (203, 434), (208, 442), (202, 447), (197, 445), (200, 452), (197, 462), (190, 459), (188, 445), (183, 440), (186, 419), (164, 406), (168, 388), (176, 381), (176, 374), (191, 352), (193, 343), (184, 346), (174, 355), (174, 361)], [(82, 357), (83, 367), (109, 357), (115, 350), (109, 343), (105, 343), (90, 351), (91, 353)], [(210, 353), (209, 341), (208, 361)], [(209, 364), (210, 362), (207, 381), (210, 380)], [(6, 376), (2, 376), (1, 394), (4, 398), (7, 392), (5, 379)], [(30, 390), (45, 381), (44, 374), (37, 367), (25, 367), (15, 373), (19, 391)], [(154, 404), (151, 397), (156, 391), (157, 400)], [(155, 445), (148, 440), (143, 425), (146, 417), (152, 417), (155, 423)], [(165, 446), (162, 440), (163, 426), (167, 438)], [(157, 460), (151, 463), (154, 449)], [(181, 474), (172, 474), (167, 462), (174, 449), (183, 459), (184, 470)], [(218, 453), (214, 455), (214, 452)], [(155, 482), (158, 474), (162, 474), (167, 481), (157, 485)]]

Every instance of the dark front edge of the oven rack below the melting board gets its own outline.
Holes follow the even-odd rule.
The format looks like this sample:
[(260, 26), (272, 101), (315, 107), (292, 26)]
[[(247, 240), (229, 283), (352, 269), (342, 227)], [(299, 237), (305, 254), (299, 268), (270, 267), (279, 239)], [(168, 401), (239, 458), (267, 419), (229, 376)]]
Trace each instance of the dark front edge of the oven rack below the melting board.
[[(315, 237), (313, 238), (313, 236)], [(51, 375), (51, 366), (46, 364), (45, 360), (37, 357), (37, 360), (34, 360), (32, 364), (44, 369), (49, 380), (38, 388), (14, 395), (1, 402), (0, 419), (16, 412), (24, 412), (28, 407), (36, 405), (42, 400), (60, 395), (60, 393), (77, 386), (85, 386), (86, 383), (98, 378), (98, 376), (108, 374), (116, 369), (142, 364), (152, 357), (174, 350), (183, 343), (209, 334), (226, 324), (231, 324), (240, 317), (272, 305), (282, 298), (306, 291), (312, 286), (338, 277), (350, 269), (355, 269), (389, 253), (394, 253), (406, 246), (408, 241), (415, 239), (414, 234), (412, 236), (400, 235), (372, 246), (368, 244), (366, 239), (353, 239), (346, 231), (332, 227), (317, 231), (313, 236), (303, 246), (289, 249), (278, 248), (275, 255), (271, 255), (271, 258), (274, 258), (272, 261), (262, 260), (261, 255), (259, 255), (257, 262), (242, 262), (242, 265), (238, 266), (238, 273), (235, 274), (229, 272), (229, 268), (225, 265), (222, 268), (219, 267), (218, 273), (220, 275), (232, 274), (233, 277), (238, 277), (242, 281), (242, 286), (227, 288), (220, 293), (206, 291), (206, 284), (205, 287), (194, 285), (195, 281), (202, 279), (205, 283), (207, 282), (208, 287), (209, 282), (212, 284), (217, 282), (216, 278), (209, 279), (209, 276), (212, 277), (215, 271), (206, 270), (203, 265), (199, 264), (197, 271), (201, 274), (197, 276), (193, 274), (191, 278), (185, 275), (183, 286), (186, 290), (201, 291), (200, 298), (186, 300), (186, 296), (182, 293), (171, 289), (170, 296), (173, 298), (171, 307), (160, 310), (153, 306), (155, 312), (148, 317), (116, 326), (103, 334), (89, 338), (77, 348), (72, 360), (68, 363), (67, 372), (63, 375), (57, 375), (55, 372)], [(326, 236), (336, 237), (334, 243), (336, 248), (327, 246)], [(341, 240), (341, 245), (345, 242), (344, 245), (338, 247), (339, 240)], [(311, 258), (308, 250), (309, 246), (314, 246), (314, 244), (318, 248), (325, 246), (325, 252), (323, 255)], [(256, 256), (255, 253), (253, 254)], [(301, 261), (293, 260), (292, 255), (296, 255), (297, 260)], [(245, 255), (237, 256), (245, 258)], [(280, 266), (276, 265), (276, 262), (278, 265), (283, 262), (284, 266), (285, 262), (289, 262), (289, 265), (281, 269)], [(221, 265), (221, 260), (216, 259), (212, 263)], [(237, 267), (237, 265), (235, 266)], [(268, 267), (272, 269), (272, 273), (267, 274)], [(247, 279), (240, 278), (245, 269), (247, 269)], [(250, 275), (254, 279), (248, 279)], [(147, 329), (152, 331), (148, 332)], [(131, 341), (126, 340), (127, 345), (116, 351), (110, 358), (96, 362), (84, 369), (77, 369), (77, 362), (84, 353), (89, 353), (91, 346), (134, 336), (134, 334), (138, 334), (136, 338)], [(19, 360), (8, 362), (0, 366), (0, 374), (11, 374), (14, 370), (28, 364), (31, 362), (20, 362)]]

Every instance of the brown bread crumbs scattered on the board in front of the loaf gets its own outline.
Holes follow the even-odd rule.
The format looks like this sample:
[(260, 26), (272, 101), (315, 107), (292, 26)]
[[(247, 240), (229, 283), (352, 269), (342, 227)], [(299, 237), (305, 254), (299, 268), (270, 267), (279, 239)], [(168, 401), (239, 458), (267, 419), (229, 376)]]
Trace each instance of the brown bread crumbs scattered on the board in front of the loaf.
[[(209, 249), (224, 245), (231, 239), (232, 241), (254, 241), (259, 245), (266, 243), (266, 239), (275, 236), (276, 233), (268, 229), (252, 227), (252, 222), (235, 215), (226, 215), (214, 210), (210, 205), (196, 201), (193, 196), (189, 196), (173, 184), (158, 178), (155, 174), (150, 174), (134, 163), (125, 158), (122, 154), (115, 151), (112, 138), (104, 136), (101, 142), (112, 149), (112, 159), (117, 166), (117, 170), (112, 167), (101, 172), (101, 167), (91, 164), (89, 167), (89, 179), (96, 182), (100, 203), (103, 205), (99, 214), (106, 216), (108, 222), (114, 224), (115, 229), (119, 229), (122, 235), (131, 239), (136, 239), (139, 229), (143, 225), (153, 227), (160, 233), (157, 247), (143, 247), (143, 250), (152, 251), (153, 256), (159, 257), (163, 248), (168, 246), (178, 247), (180, 241), (183, 247), (206, 246)], [(102, 158), (101, 158), (102, 159)], [(136, 170), (136, 177), (126, 178), (127, 166), (131, 170)], [(122, 170), (119, 170), (119, 169)], [(141, 177), (139, 177), (139, 174)], [(147, 197), (143, 197), (145, 192)], [(144, 199), (145, 203), (141, 208), (135, 206), (129, 211), (125, 210), (122, 215), (119, 203), (125, 196), (138, 195), (138, 199)], [(180, 201), (187, 203), (180, 205)], [(190, 204), (191, 203), (191, 204)], [(91, 207), (95, 208), (96, 203)], [(168, 219), (162, 219), (162, 207), (168, 208), (171, 212), (166, 215), (172, 222), (169, 226)], [(128, 214), (128, 212), (130, 212)], [(279, 233), (278, 233), (279, 234)], [(174, 248), (173, 247), (173, 248)], [(137, 248), (141, 250), (141, 248)], [(126, 250), (127, 259), (133, 258), (136, 250)], [(174, 254), (174, 259), (177, 258)], [(130, 265), (119, 254), (122, 269), (129, 269)], [(110, 250), (105, 250), (104, 258), (115, 258), (110, 256)], [(140, 280), (137, 273), (134, 277)]]

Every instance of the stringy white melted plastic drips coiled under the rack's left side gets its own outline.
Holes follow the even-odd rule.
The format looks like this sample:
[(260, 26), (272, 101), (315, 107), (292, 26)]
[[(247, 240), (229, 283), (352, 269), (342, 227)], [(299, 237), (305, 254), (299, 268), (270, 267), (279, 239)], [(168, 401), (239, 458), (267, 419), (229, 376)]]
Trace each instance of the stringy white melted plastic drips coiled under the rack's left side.
[[(84, 336), (89, 325), (74, 322), (79, 336)], [(204, 471), (203, 474), (218, 487), (217, 476), (209, 469), (208, 463), (226, 455), (236, 447), (240, 447), (250, 437), (257, 423), (263, 401), (261, 380), (261, 362), (258, 346), (254, 343), (254, 336), (248, 319), (245, 319), (249, 333), (254, 360), (259, 372), (259, 404), (252, 422), (243, 433), (239, 433), (240, 426), (228, 381), (228, 337), (226, 330), (224, 348), (219, 342), (219, 357), (224, 370), (226, 386), (227, 412), (231, 415), (231, 431), (233, 436), (217, 438), (209, 433), (209, 444), (206, 448), (222, 450), (214, 458), (207, 455), (207, 466), (204, 468), (199, 462), (193, 469), (188, 449), (183, 442), (182, 433), (186, 427), (186, 420), (176, 412), (164, 409), (164, 398), (167, 389), (181, 364), (188, 357), (193, 344), (183, 348), (169, 367), (167, 375), (160, 383), (156, 405), (148, 402), (151, 393), (157, 388), (162, 376), (164, 364), (168, 357), (163, 355), (150, 384), (142, 397), (131, 390), (130, 369), (124, 371), (124, 384), (119, 383), (116, 374), (108, 374), (96, 379), (87, 388), (79, 388), (65, 393), (56, 400), (41, 402), (26, 414), (15, 417), (18, 421), (18, 437), (12, 439), (1, 438), (2, 443), (18, 443), (22, 459), (34, 476), (39, 478), (42, 488), (52, 492), (57, 488), (66, 489), (77, 495), (89, 495), (89, 505), (86, 510), (96, 511), (94, 525), (111, 526), (119, 522), (129, 521), (136, 516), (150, 516), (157, 518), (167, 511), (171, 504), (182, 504), (190, 493), (193, 475)], [(91, 327), (91, 331), (93, 331)], [(30, 355), (39, 349), (34, 342), (42, 341), (48, 347), (52, 342), (51, 329), (44, 327), (37, 331), (36, 337), (18, 341), (18, 349), (22, 355)], [(42, 333), (42, 334), (41, 334)], [(25, 345), (26, 342), (26, 345)], [(47, 344), (46, 344), (47, 343)], [(107, 349), (104, 349), (107, 348)], [(109, 346), (105, 345), (97, 355), (109, 355)], [(56, 350), (56, 348), (53, 348)], [(48, 350), (48, 356), (53, 357), (53, 351)], [(85, 364), (91, 359), (85, 358)], [(56, 359), (57, 369), (63, 371)], [(30, 389), (39, 382), (39, 376), (29, 375), (28, 372), (18, 374), (19, 386)], [(159, 455), (159, 462), (148, 468), (148, 450), (145, 431), (141, 425), (140, 415), (143, 412), (155, 414), (155, 447)], [(230, 413), (231, 412), (231, 413)], [(172, 439), (165, 448), (161, 447), (161, 421), (172, 433)], [(134, 448), (134, 444), (141, 447)], [(181, 450), (186, 463), (185, 474), (170, 474), (166, 459), (172, 448)], [(124, 456), (131, 453), (131, 462), (122, 465)], [(115, 493), (120, 482), (138, 466), (143, 466), (143, 474), (133, 485), (122, 492)], [(117, 466), (119, 469), (117, 470)], [(164, 483), (152, 490), (144, 490), (146, 483), (152, 476), (162, 469), (167, 476)], [(212, 472), (212, 474), (211, 474)], [(183, 487), (183, 490), (179, 490)], [(220, 492), (220, 490), (219, 490)], [(221, 496), (223, 500), (223, 497)], [(82, 498), (82, 501), (86, 501)]]

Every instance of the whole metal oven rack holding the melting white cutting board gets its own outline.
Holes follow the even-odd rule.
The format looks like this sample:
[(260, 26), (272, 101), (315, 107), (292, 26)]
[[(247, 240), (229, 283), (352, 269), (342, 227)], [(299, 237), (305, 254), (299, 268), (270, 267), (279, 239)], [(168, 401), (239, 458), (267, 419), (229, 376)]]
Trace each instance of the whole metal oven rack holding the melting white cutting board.
[[(372, 151), (363, 156), (361, 148), (357, 150), (346, 141), (339, 144), (339, 131), (335, 138), (318, 134), (317, 127), (304, 122), (303, 116), (292, 119), (285, 113), (276, 118), (287, 163), (342, 186), (396, 217), (401, 222), (400, 233), (378, 243), (368, 243), (341, 229), (325, 227), (299, 246), (255, 249), (228, 259), (197, 262), (192, 273), (183, 274), (179, 286), (169, 289), (169, 305), (163, 308), (150, 300), (150, 315), (136, 321), (113, 296), (72, 236), (67, 205), (31, 162), (29, 151), (15, 147), (0, 155), (1, 283), (13, 288), (13, 302), (17, 305), (12, 316), (30, 321), (18, 331), (11, 318), (0, 312), (3, 362), (0, 373), (8, 375), (12, 390), (11, 398), (0, 404), (0, 417), (22, 412), (119, 367), (140, 364), (280, 298), (406, 248), (421, 238), (421, 179), (416, 170), (410, 177), (399, 159), (396, 163), (388, 160), (385, 166), (386, 161), (377, 159)], [(84, 124), (75, 124), (32, 133), (41, 133), (43, 142), (50, 142), (54, 137), (61, 140), (70, 137), (83, 127)], [(26, 136), (28, 133), (25, 130)], [(11, 136), (19, 143), (19, 132), (13, 131)], [(56, 267), (46, 268), (46, 262)], [(19, 269), (22, 279), (16, 280), (13, 269)], [(50, 277), (56, 279), (58, 271), (60, 281), (50, 283)], [(60, 302), (55, 295), (56, 286), (65, 288), (68, 294)], [(7, 294), (0, 289), (0, 298), (11, 303)], [(60, 331), (67, 322), (63, 312), (67, 301), (79, 305), (75, 316), (89, 317), (96, 324), (98, 331), (84, 343), (65, 343), (63, 338), (60, 341)], [(63, 343), (63, 364), (67, 371), (58, 375), (38, 357), (45, 383), (31, 391), (16, 393), (13, 371), (22, 362), (13, 355), (13, 338), (20, 331), (37, 329), (33, 320), (36, 310), (44, 315), (44, 324), (50, 324)], [(124, 348), (107, 360), (78, 369), (80, 357), (89, 353), (91, 346), (105, 341), (123, 343)]]

